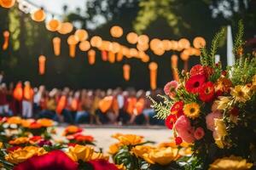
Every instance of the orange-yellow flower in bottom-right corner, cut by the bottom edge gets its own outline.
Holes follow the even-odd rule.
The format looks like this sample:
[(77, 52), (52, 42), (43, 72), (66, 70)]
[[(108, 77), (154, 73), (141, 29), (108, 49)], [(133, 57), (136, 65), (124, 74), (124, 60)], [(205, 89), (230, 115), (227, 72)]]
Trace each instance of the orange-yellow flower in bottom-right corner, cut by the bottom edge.
[(239, 156), (224, 157), (215, 160), (209, 170), (245, 170), (251, 169), (253, 163), (248, 163), (246, 159), (242, 159)]

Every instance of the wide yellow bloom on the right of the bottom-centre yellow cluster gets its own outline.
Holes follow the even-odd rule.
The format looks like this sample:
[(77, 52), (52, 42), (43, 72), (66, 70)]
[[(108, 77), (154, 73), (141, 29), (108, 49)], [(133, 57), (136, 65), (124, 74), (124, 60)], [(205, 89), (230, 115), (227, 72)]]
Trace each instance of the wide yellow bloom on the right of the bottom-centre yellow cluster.
[(167, 165), (179, 157), (177, 148), (157, 148), (149, 152), (149, 159), (160, 165)]

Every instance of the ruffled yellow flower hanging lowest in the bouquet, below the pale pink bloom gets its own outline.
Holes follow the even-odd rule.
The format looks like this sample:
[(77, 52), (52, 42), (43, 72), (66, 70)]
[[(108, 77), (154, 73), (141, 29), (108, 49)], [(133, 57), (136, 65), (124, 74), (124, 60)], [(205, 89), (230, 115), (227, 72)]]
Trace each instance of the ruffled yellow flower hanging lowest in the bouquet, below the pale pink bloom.
[(213, 138), (219, 148), (224, 148), (224, 137), (227, 135), (226, 125), (223, 119), (214, 119), (215, 131)]

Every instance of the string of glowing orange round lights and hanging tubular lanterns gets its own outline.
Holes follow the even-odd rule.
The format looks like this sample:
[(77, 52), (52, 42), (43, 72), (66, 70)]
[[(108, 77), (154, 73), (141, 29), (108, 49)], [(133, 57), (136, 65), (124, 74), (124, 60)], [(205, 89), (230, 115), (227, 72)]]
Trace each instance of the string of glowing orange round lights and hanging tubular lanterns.
[[(15, 5), (15, 0), (0, 0), (0, 6), (3, 8), (11, 8)], [(42, 22), (45, 20), (47, 14), (58, 15), (52, 12), (45, 10), (44, 8), (38, 7), (36, 4), (28, 0), (17, 0), (19, 3), (19, 8), (21, 11), (26, 14), (30, 13), (31, 18), (34, 21)], [(73, 31), (73, 24), (70, 22), (61, 22), (60, 20), (52, 17), (51, 20), (46, 22), (46, 29), (49, 31), (57, 31), (60, 34), (69, 34)], [(112, 26), (110, 28), (110, 35), (114, 38), (122, 37), (124, 34), (123, 28), (121, 26)], [(3, 32), (4, 42), (3, 50), (8, 48), (9, 42), (9, 31)], [(150, 58), (146, 51), (150, 49), (156, 55), (163, 55), (167, 51), (177, 51), (180, 52), (180, 59), (183, 60), (184, 70), (188, 66), (189, 57), (192, 55), (199, 56), (200, 48), (206, 45), (206, 41), (203, 37), (195, 37), (193, 40), (193, 47), (191, 43), (186, 38), (181, 38), (178, 41), (159, 38), (149, 39), (147, 35), (137, 35), (135, 32), (129, 32), (126, 35), (126, 41), (131, 45), (136, 45), (136, 48), (129, 48), (125, 45), (120, 44), (119, 42), (110, 42), (103, 40), (100, 36), (93, 36), (89, 38), (89, 34), (84, 29), (78, 29), (74, 32), (73, 35), (67, 37), (67, 44), (69, 45), (69, 55), (74, 58), (76, 55), (76, 48), (79, 44), (79, 49), (83, 52), (87, 52), (88, 62), (90, 65), (94, 65), (96, 62), (96, 51), (93, 48), (96, 48), (101, 51), (102, 60), (108, 61), (110, 63), (115, 63), (116, 61), (122, 61), (124, 57), (127, 59), (135, 58), (141, 59), (144, 63), (148, 63)], [(54, 37), (52, 39), (54, 54), (59, 56), (61, 54), (61, 38)], [(177, 73), (177, 55), (172, 55), (171, 58), (171, 67), (172, 67), (172, 76), (175, 80), (178, 81)], [(40, 75), (44, 75), (45, 72), (45, 62), (46, 57), (40, 55), (38, 57), (38, 71)], [(152, 89), (157, 88), (157, 70), (158, 65), (155, 62), (148, 64), (149, 76), (150, 76), (150, 87)], [(125, 81), (130, 80), (131, 75), (131, 65), (123, 65), (123, 76)]]

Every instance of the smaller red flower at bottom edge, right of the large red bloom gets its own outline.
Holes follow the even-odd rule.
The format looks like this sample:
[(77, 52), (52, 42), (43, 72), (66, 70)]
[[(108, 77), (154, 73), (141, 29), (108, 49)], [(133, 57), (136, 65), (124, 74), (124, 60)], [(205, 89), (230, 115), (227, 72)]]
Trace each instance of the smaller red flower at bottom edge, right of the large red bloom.
[(93, 160), (89, 161), (94, 170), (118, 170), (118, 168), (106, 160)]

